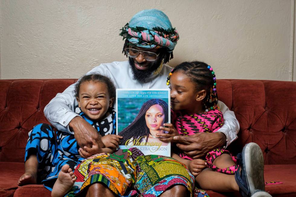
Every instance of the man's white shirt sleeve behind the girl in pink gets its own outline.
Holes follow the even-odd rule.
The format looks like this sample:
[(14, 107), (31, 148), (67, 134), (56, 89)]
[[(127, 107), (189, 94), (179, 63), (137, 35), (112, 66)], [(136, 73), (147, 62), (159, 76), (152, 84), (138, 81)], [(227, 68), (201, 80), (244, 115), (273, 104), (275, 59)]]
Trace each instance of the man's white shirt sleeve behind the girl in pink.
[(234, 112), (230, 111), (223, 102), (218, 101), (218, 106), (223, 113), (224, 124), (220, 129), (218, 129), (217, 132), (222, 132), (225, 135), (226, 143), (224, 143), (222, 146), (223, 148), (226, 148), (231, 142), (236, 140), (237, 134), (240, 130), (240, 124), (237, 121)]

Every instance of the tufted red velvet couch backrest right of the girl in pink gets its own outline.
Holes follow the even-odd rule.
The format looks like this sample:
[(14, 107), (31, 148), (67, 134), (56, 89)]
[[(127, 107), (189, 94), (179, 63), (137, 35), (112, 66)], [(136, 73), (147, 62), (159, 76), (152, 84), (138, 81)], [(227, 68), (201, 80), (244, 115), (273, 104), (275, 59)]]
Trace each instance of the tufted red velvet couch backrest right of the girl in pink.
[(230, 145), (232, 153), (255, 142), (263, 151), (264, 164), (296, 164), (296, 82), (219, 80), (217, 92), (240, 123), (238, 139)]

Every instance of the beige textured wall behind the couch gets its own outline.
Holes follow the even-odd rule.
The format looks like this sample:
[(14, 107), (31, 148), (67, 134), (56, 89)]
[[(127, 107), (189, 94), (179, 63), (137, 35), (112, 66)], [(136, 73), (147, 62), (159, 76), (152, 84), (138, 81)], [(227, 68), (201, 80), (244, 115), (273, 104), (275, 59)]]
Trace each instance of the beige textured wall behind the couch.
[(296, 81), (295, 0), (1, 0), (1, 79), (79, 78), (126, 60), (119, 29), (149, 8), (179, 31), (171, 66), (201, 60), (217, 78)]

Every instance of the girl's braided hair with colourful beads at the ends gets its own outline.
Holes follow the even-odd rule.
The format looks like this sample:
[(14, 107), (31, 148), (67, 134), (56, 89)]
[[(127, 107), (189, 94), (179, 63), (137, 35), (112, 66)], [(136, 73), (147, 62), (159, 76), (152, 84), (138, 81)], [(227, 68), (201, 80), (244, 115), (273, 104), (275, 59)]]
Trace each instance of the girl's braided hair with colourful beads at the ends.
[[(204, 62), (183, 62), (176, 66), (171, 73), (181, 71), (196, 84), (196, 91), (205, 90), (204, 98), (205, 109), (213, 109), (217, 107), (218, 95), (216, 92), (216, 75), (210, 70), (211, 66)], [(170, 77), (170, 75), (169, 75)], [(169, 80), (168, 77), (168, 80)]]

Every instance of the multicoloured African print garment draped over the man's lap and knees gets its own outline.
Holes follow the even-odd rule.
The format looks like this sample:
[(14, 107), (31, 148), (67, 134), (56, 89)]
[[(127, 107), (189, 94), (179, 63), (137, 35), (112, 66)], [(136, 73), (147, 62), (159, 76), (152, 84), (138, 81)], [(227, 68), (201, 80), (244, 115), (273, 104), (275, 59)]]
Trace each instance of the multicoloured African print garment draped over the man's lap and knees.
[[(104, 183), (119, 196), (154, 197), (173, 185), (183, 185), (192, 194), (194, 176), (172, 157), (143, 155), (137, 148), (114, 154), (96, 154), (74, 170), (77, 177), (66, 196), (75, 196), (93, 183)], [(203, 195), (204, 196), (204, 195)]]

